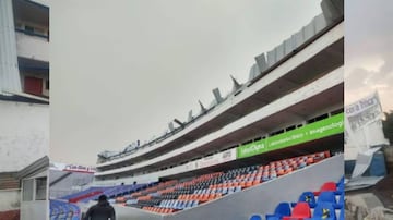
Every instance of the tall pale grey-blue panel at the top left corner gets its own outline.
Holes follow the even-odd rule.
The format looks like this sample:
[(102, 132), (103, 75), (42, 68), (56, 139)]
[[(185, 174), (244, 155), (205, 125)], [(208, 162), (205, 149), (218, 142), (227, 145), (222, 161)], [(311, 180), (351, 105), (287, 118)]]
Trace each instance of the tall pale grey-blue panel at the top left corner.
[(12, 0), (0, 0), (0, 94), (21, 90)]

